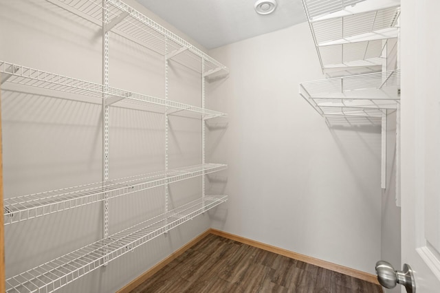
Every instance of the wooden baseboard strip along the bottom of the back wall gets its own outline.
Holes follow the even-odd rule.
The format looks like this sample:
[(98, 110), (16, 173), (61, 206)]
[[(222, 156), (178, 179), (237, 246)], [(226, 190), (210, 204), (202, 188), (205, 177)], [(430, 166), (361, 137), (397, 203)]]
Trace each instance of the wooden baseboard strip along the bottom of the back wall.
[(223, 232), (221, 230), (211, 228), (210, 233), (224, 237), (224, 238), (228, 238), (228, 239), (240, 242), (240, 243), (248, 244), (249, 246), (254, 246), (256, 248), (261, 248), (263, 250), (274, 252), (276, 254), (281, 254), (281, 255), (283, 255), (285, 257), (289, 257), (291, 259), (297, 259), (298, 261), (303, 261), (305, 263), (317, 265), (320, 268), (325, 268), (327, 270), (333, 270), (333, 272), (340, 272), (341, 274), (347, 274), (348, 276), (353, 276), (355, 278), (380, 285), (379, 282), (377, 281), (377, 277), (374, 274), (369, 274), (367, 272), (362, 272), (360, 270), (355, 270), (353, 268), (347, 268), (347, 267), (344, 267), (343, 265), (337, 265), (336, 263), (331, 263), (329, 261), (322, 261), (321, 259), (315, 259), (314, 257), (308, 257), (307, 255), (304, 255), (304, 254), (299, 254), (296, 252), (285, 250), (283, 248), (271, 246), (266, 243), (261, 243), (259, 241), (255, 241), (255, 240), (248, 239), (245, 237), (233, 235), (228, 232)]

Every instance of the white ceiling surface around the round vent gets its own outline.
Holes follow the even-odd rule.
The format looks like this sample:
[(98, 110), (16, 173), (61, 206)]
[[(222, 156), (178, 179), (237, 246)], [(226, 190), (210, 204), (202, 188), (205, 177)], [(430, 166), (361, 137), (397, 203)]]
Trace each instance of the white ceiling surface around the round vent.
[(301, 0), (276, 0), (276, 10), (268, 15), (256, 14), (256, 0), (137, 1), (206, 49), (306, 21)]

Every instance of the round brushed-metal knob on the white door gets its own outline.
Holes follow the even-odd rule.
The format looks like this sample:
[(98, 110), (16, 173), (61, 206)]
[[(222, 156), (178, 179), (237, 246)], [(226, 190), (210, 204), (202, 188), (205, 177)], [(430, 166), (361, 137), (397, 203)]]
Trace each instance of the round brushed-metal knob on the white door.
[(380, 285), (392, 289), (397, 284), (404, 285), (407, 293), (415, 293), (415, 279), (411, 267), (404, 263), (403, 270), (394, 270), (386, 261), (376, 263), (377, 281)]

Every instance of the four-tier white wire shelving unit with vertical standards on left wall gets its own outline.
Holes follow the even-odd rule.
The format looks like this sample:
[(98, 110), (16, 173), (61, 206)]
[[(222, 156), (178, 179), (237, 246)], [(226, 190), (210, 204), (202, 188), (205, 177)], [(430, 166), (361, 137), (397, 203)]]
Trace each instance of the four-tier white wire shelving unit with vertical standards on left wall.
[[(67, 187), (54, 191), (45, 191), (30, 195), (4, 199), (3, 218), (5, 225), (43, 217), (71, 208), (101, 202), (103, 206), (102, 239), (83, 248), (69, 252), (61, 257), (47, 261), (42, 265), (26, 270), (21, 274), (6, 279), (6, 292), (54, 292), (76, 279), (113, 261), (126, 252), (168, 232), (201, 213), (228, 200), (227, 195), (206, 195), (204, 176), (227, 168), (225, 164), (205, 162), (205, 121), (210, 118), (227, 116), (226, 113), (204, 108), (204, 82), (210, 78), (228, 75), (229, 69), (208, 56), (199, 48), (191, 45), (162, 25), (149, 19), (135, 8), (120, 0), (47, 0), (62, 10), (78, 16), (81, 21), (94, 23), (102, 30), (103, 63), (102, 84), (71, 78), (25, 67), (6, 61), (0, 61), (0, 84), (17, 85), (26, 88), (67, 93), (81, 97), (99, 99), (102, 102), (103, 135), (103, 180), (80, 186)], [(164, 98), (157, 98), (133, 91), (109, 86), (109, 34), (122, 36), (126, 40), (152, 50), (164, 60)], [(201, 107), (187, 105), (168, 99), (168, 62), (177, 62), (195, 70), (202, 80)], [(56, 94), (54, 95), (57, 96)], [(163, 171), (109, 180), (109, 107), (134, 104), (159, 109), (165, 121), (165, 166)], [(136, 109), (138, 109), (136, 107)], [(147, 110), (148, 111), (148, 110)], [(202, 163), (178, 169), (168, 169), (168, 115), (175, 113), (195, 114), (201, 118), (202, 126)], [(186, 115), (186, 114), (185, 114)], [(202, 196), (178, 208), (168, 210), (168, 184), (202, 177)], [(152, 217), (131, 228), (126, 228), (113, 235), (108, 233), (108, 201), (146, 191), (149, 188), (165, 187), (165, 209), (160, 215)]]

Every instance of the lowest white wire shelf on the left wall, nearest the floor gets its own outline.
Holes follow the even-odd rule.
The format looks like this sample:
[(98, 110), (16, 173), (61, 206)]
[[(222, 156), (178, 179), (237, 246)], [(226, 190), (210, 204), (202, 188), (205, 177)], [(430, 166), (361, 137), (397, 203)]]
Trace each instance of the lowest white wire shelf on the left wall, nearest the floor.
[(47, 261), (32, 270), (6, 279), (6, 292), (54, 292), (228, 200), (227, 195), (207, 195), (88, 246)]

